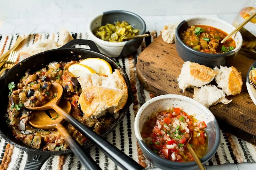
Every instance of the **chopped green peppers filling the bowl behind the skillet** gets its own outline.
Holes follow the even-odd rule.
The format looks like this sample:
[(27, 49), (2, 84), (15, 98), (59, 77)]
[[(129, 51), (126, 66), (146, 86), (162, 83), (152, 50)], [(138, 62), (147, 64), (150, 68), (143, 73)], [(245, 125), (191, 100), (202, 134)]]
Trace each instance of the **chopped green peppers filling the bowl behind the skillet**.
[(117, 21), (116, 24), (106, 24), (95, 28), (92, 33), (104, 41), (123, 42), (124, 38), (139, 35), (139, 30), (133, 28), (128, 22)]

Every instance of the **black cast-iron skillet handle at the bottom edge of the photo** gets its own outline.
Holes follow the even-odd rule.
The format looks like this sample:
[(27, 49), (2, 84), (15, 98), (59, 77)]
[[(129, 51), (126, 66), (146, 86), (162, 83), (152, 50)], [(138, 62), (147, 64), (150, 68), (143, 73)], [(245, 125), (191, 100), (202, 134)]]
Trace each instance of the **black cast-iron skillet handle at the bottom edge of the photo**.
[(51, 156), (47, 153), (36, 154), (32, 151), (27, 152), (27, 155), (27, 162), (24, 170), (40, 170), (46, 159)]

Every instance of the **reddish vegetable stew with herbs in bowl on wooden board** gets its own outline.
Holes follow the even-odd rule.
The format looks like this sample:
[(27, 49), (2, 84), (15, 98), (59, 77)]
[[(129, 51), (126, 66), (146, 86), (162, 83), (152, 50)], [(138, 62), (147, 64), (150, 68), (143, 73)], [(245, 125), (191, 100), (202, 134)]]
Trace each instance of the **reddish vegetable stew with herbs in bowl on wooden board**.
[(181, 34), (181, 40), (197, 51), (211, 54), (220, 54), (232, 51), (236, 48), (236, 42), (229, 38), (220, 43), (228, 34), (212, 26), (195, 25), (185, 29)]

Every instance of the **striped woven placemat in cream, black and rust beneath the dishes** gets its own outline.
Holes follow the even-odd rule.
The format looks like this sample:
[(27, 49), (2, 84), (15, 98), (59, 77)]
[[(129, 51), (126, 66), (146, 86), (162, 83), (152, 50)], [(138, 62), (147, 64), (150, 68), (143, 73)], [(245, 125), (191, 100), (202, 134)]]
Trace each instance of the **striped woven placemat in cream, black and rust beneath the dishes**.
[[(150, 162), (143, 155), (134, 134), (134, 118), (140, 108), (147, 100), (153, 98), (154, 95), (146, 91), (138, 81), (135, 73), (135, 65), (137, 57), (154, 39), (159, 35), (156, 31), (150, 32), (150, 37), (147, 37), (142, 42), (141, 47), (138, 49), (136, 55), (130, 55), (125, 58), (115, 58), (116, 62), (126, 70), (127, 75), (130, 78), (132, 85), (132, 92), (135, 100), (130, 107), (130, 112), (124, 117), (124, 120), (120, 125), (106, 138), (110, 143), (115, 145), (117, 148), (122, 150), (125, 154), (130, 156), (132, 159), (138, 161), (144, 167), (153, 167)], [(0, 35), (0, 55), (10, 49), (15, 43), (19, 34), (14, 35)], [(20, 35), (25, 37), (25, 35)], [(90, 39), (87, 33), (72, 33), (74, 38), (79, 39)], [(50, 34), (33, 34), (28, 38), (28, 41), (23, 43), (23, 47), (28, 47), (36, 41), (43, 39), (52, 39), (58, 41), (58, 33)], [(22, 48), (20, 50), (22, 50)], [(23, 60), (22, 56), (19, 57), (19, 61)], [(2, 114), (4, 116), (4, 114)], [(220, 146), (215, 155), (210, 159), (206, 165), (219, 165), (225, 163), (243, 163), (243, 162), (255, 162), (256, 160), (256, 148), (254, 145), (244, 141), (243, 139), (237, 138), (236, 136), (220, 130)], [(24, 169), (27, 154), (8, 144), (2, 137), (0, 137), (0, 170), (1, 169)], [(87, 149), (92, 158), (100, 165), (104, 170), (118, 170), (118, 167), (111, 159), (108, 159), (104, 153), (99, 151), (98, 148), (92, 146)], [(78, 159), (73, 155), (60, 155), (51, 156), (42, 166), (42, 169), (84, 169), (81, 166)]]

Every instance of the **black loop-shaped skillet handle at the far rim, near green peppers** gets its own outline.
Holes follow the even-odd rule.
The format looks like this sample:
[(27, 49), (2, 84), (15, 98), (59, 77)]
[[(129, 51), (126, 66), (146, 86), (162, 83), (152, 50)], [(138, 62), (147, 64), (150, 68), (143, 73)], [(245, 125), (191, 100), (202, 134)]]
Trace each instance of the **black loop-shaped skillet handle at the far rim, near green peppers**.
[(90, 47), (91, 51), (100, 53), (99, 48), (96, 46), (95, 42), (91, 40), (83, 40), (83, 39), (74, 39), (69, 41), (67, 44), (63, 45), (61, 48), (74, 48), (75, 45), (87, 45)]

